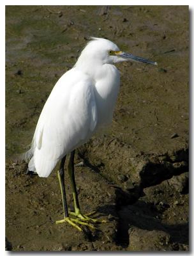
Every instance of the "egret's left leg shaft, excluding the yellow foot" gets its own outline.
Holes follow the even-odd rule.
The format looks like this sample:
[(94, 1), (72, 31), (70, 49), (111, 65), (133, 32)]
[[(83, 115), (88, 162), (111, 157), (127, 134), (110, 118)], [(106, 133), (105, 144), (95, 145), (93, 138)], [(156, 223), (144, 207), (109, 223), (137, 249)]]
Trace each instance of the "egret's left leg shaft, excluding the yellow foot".
[(61, 196), (62, 196), (62, 201), (63, 201), (63, 211), (64, 211), (64, 218), (69, 217), (68, 213), (68, 205), (66, 203), (66, 193), (65, 193), (65, 188), (64, 188), (64, 163), (65, 163), (66, 156), (64, 156), (61, 159), (61, 165), (60, 165), (60, 170), (58, 171), (58, 178), (59, 178), (59, 184), (61, 188)]

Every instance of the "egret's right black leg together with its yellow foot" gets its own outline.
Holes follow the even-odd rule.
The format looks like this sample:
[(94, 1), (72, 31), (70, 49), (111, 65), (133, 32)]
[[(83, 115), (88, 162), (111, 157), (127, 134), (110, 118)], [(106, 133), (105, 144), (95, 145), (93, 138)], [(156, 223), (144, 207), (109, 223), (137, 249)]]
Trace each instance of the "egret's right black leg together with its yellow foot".
[(74, 202), (75, 212), (69, 212), (69, 213), (70, 215), (76, 216), (78, 219), (82, 221), (106, 222), (103, 220), (100, 221), (100, 220), (89, 218), (89, 216), (93, 215), (95, 211), (90, 212), (88, 214), (82, 214), (82, 212), (80, 211), (80, 205), (78, 202), (78, 194), (77, 194), (76, 183), (75, 183), (74, 156), (75, 156), (75, 150), (71, 152), (70, 161), (68, 163), (68, 173), (70, 175), (71, 187), (73, 191), (73, 202)]

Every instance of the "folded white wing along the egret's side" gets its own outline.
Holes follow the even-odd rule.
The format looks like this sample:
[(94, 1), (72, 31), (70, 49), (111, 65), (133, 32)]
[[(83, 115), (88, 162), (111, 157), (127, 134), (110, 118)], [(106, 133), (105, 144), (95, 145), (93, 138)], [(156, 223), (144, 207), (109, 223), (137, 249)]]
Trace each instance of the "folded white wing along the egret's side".
[(40, 177), (48, 177), (59, 159), (93, 134), (97, 122), (93, 88), (88, 76), (72, 69), (50, 93), (33, 138), (33, 161)]

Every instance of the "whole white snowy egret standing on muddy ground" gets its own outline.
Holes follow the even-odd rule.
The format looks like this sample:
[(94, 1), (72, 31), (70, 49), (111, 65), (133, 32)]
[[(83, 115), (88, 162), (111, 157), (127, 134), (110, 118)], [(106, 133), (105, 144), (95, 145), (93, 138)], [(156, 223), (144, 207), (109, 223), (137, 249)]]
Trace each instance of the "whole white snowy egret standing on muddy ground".
[[(64, 218), (56, 223), (67, 222), (82, 230), (80, 225), (94, 228), (90, 221), (98, 221), (80, 210), (74, 176), (75, 148), (111, 122), (120, 86), (119, 71), (114, 64), (126, 60), (157, 65), (154, 61), (120, 51), (107, 39), (91, 38), (75, 66), (57, 81), (41, 111), (31, 149), (24, 157), (31, 159), (29, 171), (40, 177), (48, 177), (61, 160), (57, 174)], [(67, 154), (71, 154), (68, 173), (75, 212), (69, 212), (66, 203), (64, 163)]]

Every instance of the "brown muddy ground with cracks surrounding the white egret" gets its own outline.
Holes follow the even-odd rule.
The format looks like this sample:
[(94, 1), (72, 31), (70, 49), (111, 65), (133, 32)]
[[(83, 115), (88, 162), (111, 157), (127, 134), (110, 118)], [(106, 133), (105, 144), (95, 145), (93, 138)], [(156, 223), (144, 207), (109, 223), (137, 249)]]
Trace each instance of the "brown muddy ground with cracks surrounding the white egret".
[[(188, 6), (6, 7), (6, 250), (189, 250)], [(108, 38), (158, 67), (120, 63), (111, 127), (77, 150), (83, 212), (108, 220), (78, 232), (63, 216), (56, 170), (26, 175), (27, 150), (57, 79), (87, 36)], [(69, 180), (68, 204), (73, 207)]]

